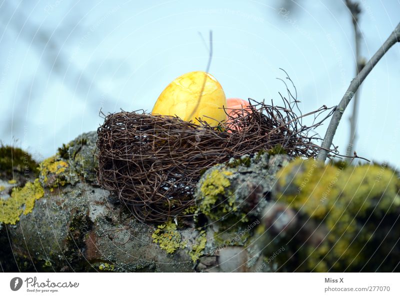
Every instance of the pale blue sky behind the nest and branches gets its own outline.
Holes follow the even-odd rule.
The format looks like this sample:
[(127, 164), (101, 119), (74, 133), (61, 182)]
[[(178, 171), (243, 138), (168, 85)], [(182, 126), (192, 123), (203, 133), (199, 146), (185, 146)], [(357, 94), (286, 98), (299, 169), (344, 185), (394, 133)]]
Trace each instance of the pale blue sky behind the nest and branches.
[[(400, 21), (400, 2), (362, 0), (361, 54), (369, 58)], [(210, 73), (226, 97), (279, 100), (291, 76), (302, 111), (339, 102), (354, 76), (353, 31), (341, 1), (3, 1), (0, 139), (40, 160), (103, 112), (151, 110), (175, 77), (204, 70), (198, 32), (213, 31)], [(285, 7), (283, 10), (282, 7)], [(357, 154), (400, 165), (400, 46), (363, 82)], [(345, 151), (348, 116), (334, 143)], [(327, 125), (327, 123), (326, 123)], [(325, 126), (317, 130), (321, 135)]]

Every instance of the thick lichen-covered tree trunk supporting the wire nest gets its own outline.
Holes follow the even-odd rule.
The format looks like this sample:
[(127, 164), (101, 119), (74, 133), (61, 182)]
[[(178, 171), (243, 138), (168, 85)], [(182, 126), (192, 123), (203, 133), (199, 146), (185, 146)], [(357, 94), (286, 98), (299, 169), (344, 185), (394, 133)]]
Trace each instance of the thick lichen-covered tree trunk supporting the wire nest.
[(21, 206), (0, 228), (3, 270), (399, 269), (400, 182), (384, 164), (326, 166), (255, 152), (205, 171), (196, 204), (158, 226), (135, 220), (96, 185), (95, 139), (85, 133), (64, 145), (26, 185), (18, 171), (15, 184), (0, 180), (1, 202)]

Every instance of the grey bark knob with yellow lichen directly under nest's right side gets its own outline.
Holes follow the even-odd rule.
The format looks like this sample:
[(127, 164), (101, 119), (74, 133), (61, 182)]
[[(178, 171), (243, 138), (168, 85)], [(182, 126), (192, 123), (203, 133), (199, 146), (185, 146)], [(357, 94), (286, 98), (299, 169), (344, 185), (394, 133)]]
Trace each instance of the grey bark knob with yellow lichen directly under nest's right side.
[(195, 192), (198, 212), (211, 221), (251, 221), (261, 213), (272, 186), (274, 173), (287, 156), (275, 156), (269, 163), (266, 151), (230, 159), (209, 168)]

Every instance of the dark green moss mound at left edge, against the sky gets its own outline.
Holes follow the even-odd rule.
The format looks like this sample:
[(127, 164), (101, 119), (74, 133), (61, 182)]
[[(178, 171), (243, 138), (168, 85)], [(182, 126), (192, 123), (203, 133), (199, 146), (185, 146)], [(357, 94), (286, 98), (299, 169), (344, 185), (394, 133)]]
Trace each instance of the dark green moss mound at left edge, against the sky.
[(20, 148), (0, 146), (0, 171), (4, 177), (12, 176), (12, 171), (37, 173), (37, 163), (32, 156)]

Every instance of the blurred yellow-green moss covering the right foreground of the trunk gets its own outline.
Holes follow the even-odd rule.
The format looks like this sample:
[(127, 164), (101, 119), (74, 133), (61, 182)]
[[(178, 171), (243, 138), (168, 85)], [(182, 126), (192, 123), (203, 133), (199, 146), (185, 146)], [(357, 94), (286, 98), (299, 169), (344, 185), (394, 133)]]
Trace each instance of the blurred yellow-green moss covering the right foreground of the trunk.
[(377, 165), (324, 166), (313, 160), (296, 160), (277, 177), (278, 201), (327, 228), (326, 239), (317, 248), (308, 246), (298, 252), (307, 259), (308, 270), (356, 271), (373, 262), (381, 246), (370, 245), (380, 236), (373, 222), (382, 228), (384, 224), (379, 222), (385, 217), (389, 220), (390, 214), (396, 216), (400, 206), (399, 179), (392, 170)]

